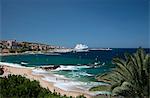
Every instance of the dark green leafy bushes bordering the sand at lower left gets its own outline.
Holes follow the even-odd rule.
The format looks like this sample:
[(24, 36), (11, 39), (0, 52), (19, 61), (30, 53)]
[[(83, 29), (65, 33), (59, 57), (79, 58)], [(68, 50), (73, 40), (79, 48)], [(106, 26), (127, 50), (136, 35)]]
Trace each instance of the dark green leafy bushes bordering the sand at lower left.
[[(0, 98), (72, 98), (42, 88), (37, 81), (30, 81), (21, 75), (0, 78)], [(78, 96), (77, 98), (85, 98)]]

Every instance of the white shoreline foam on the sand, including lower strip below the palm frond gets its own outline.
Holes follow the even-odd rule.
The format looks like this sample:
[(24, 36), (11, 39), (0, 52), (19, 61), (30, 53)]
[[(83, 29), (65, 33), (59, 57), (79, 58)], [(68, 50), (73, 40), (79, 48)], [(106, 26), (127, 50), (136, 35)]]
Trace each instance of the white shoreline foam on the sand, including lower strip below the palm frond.
[(65, 91), (87, 92), (88, 94), (92, 96), (98, 95), (98, 94), (110, 94), (110, 92), (107, 92), (107, 91), (96, 91), (96, 92), (89, 91), (89, 89), (93, 86), (104, 85), (104, 83), (101, 83), (101, 82), (71, 81), (71, 80), (66, 80), (63, 78), (58, 78), (55, 76), (45, 76), (42, 79), (48, 82), (52, 82), (55, 87), (60, 88)]

